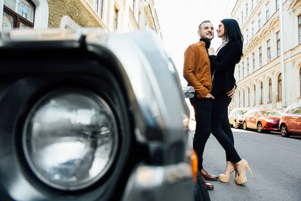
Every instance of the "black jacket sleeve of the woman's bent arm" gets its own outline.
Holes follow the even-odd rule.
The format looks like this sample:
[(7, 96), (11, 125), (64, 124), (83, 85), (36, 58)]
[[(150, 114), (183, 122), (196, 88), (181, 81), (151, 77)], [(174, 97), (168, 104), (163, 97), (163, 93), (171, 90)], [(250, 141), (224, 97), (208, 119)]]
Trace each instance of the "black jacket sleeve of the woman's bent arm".
[[(220, 60), (217, 60), (215, 55), (210, 55), (211, 68), (217, 71), (225, 71), (229, 69), (240, 57), (239, 46), (236, 42), (232, 42), (225, 50), (225, 54)], [(232, 64), (232, 65), (231, 65)]]

